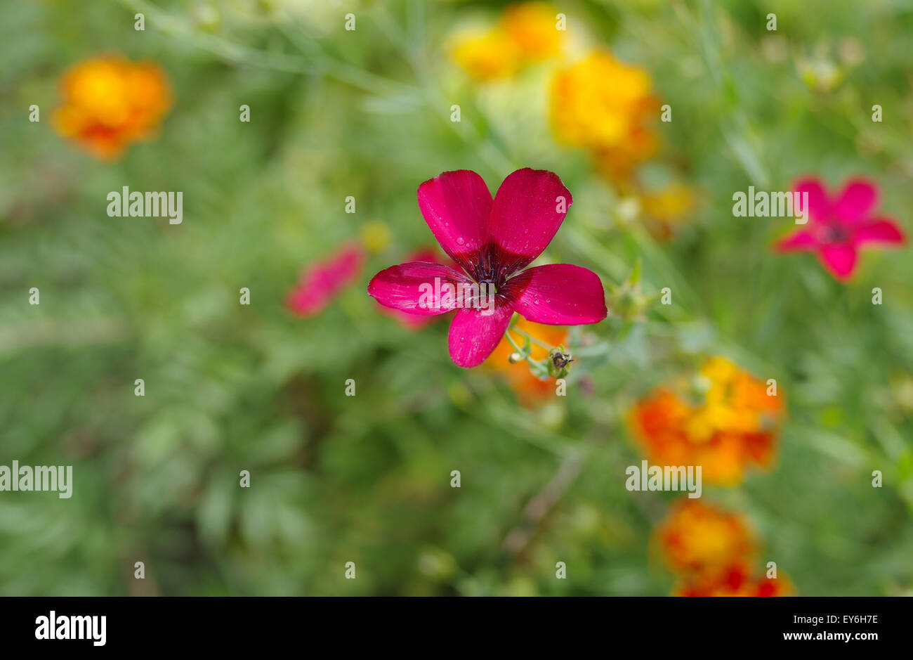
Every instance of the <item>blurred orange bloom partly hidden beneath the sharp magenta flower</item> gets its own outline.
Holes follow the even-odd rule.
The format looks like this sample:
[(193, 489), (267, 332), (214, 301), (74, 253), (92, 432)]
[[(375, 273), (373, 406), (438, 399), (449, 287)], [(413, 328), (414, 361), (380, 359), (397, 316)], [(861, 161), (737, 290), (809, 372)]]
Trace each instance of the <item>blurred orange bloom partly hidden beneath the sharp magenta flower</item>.
[[(559, 325), (541, 325), (520, 317), (516, 327), (528, 335), (536, 337), (543, 344), (558, 346), (567, 342), (567, 329)], [(508, 332), (511, 333), (510, 336), (518, 346), (523, 346), (525, 337), (513, 332), (512, 328)], [(483, 364), (501, 374), (508, 381), (511, 389), (517, 392), (520, 403), (525, 406), (534, 405), (542, 399), (553, 396), (555, 393), (554, 379), (536, 378), (525, 361), (510, 364), (508, 358), (514, 352), (515, 349), (510, 346), (508, 338), (502, 337), (494, 352)], [(534, 360), (544, 360), (549, 357), (549, 352), (542, 346), (533, 344), (530, 357)]]

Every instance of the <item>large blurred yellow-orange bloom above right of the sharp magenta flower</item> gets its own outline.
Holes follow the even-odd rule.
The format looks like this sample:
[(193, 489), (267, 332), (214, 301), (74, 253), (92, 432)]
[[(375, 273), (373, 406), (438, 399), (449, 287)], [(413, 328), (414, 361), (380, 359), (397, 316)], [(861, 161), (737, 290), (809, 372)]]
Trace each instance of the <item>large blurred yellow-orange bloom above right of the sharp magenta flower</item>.
[(613, 178), (656, 154), (649, 129), (659, 101), (645, 69), (604, 50), (561, 70), (551, 85), (551, 122), (564, 144), (593, 150), (597, 165)]

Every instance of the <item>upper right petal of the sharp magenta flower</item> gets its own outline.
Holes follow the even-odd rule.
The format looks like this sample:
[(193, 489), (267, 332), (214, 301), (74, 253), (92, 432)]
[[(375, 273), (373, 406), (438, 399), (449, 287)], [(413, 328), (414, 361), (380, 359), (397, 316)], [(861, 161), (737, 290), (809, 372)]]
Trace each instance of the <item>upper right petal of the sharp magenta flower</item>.
[(553, 172), (527, 167), (504, 179), (491, 207), (488, 237), (505, 274), (519, 271), (545, 250), (572, 202), (571, 192)]

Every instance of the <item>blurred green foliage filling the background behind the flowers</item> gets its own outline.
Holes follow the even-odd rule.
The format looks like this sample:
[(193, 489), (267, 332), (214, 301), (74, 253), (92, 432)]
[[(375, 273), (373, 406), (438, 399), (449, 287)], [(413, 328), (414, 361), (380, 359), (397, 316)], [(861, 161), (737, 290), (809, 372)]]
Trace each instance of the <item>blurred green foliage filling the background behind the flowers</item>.
[[(75, 479), (68, 500), (0, 493), (0, 594), (666, 594), (649, 539), (672, 496), (624, 490), (641, 458), (625, 414), (714, 353), (777, 378), (788, 416), (770, 472), (705, 497), (750, 516), (763, 559), (803, 595), (910, 593), (908, 251), (867, 252), (841, 285), (813, 257), (773, 255), (787, 224), (733, 218), (731, 195), (863, 174), (910, 231), (913, 6), (559, 4), (570, 29), (649, 70), (674, 109), (663, 139), (704, 203), (671, 242), (622, 222), (586, 154), (554, 143), (546, 71), (485, 88), (447, 59), (455, 25), (490, 23), (502, 5), (0, 5), (0, 464), (72, 464)], [(837, 59), (846, 37), (858, 65)], [(50, 122), (60, 73), (104, 52), (159, 62), (176, 97), (161, 136), (116, 164)], [(814, 58), (842, 68), (833, 90), (803, 80)], [(41, 122), (27, 121), (33, 103)], [(446, 324), (411, 333), (365, 293), (432, 241), (419, 183), (470, 168), (495, 188), (527, 165), (574, 196), (552, 260), (618, 283), (640, 259), (645, 292), (669, 286), (676, 303), (624, 335), (587, 328), (605, 350), (581, 354), (569, 396), (533, 410), (487, 371), (455, 367)], [(184, 191), (184, 223), (108, 218), (121, 186)], [(323, 314), (290, 315), (300, 269), (370, 220), (391, 244)], [(574, 389), (584, 373), (589, 395)], [(524, 507), (568, 471), (530, 523)], [(511, 530), (529, 536), (519, 553), (505, 549)], [(133, 580), (139, 560), (146, 580)]]

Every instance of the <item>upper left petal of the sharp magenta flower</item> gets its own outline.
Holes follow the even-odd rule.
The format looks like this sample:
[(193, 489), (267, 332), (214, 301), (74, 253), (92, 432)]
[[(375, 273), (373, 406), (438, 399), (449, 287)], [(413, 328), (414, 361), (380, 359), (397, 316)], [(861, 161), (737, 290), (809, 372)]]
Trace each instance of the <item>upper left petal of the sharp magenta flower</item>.
[(488, 242), (491, 193), (472, 170), (444, 172), (418, 186), (418, 208), (437, 242), (461, 268)]

